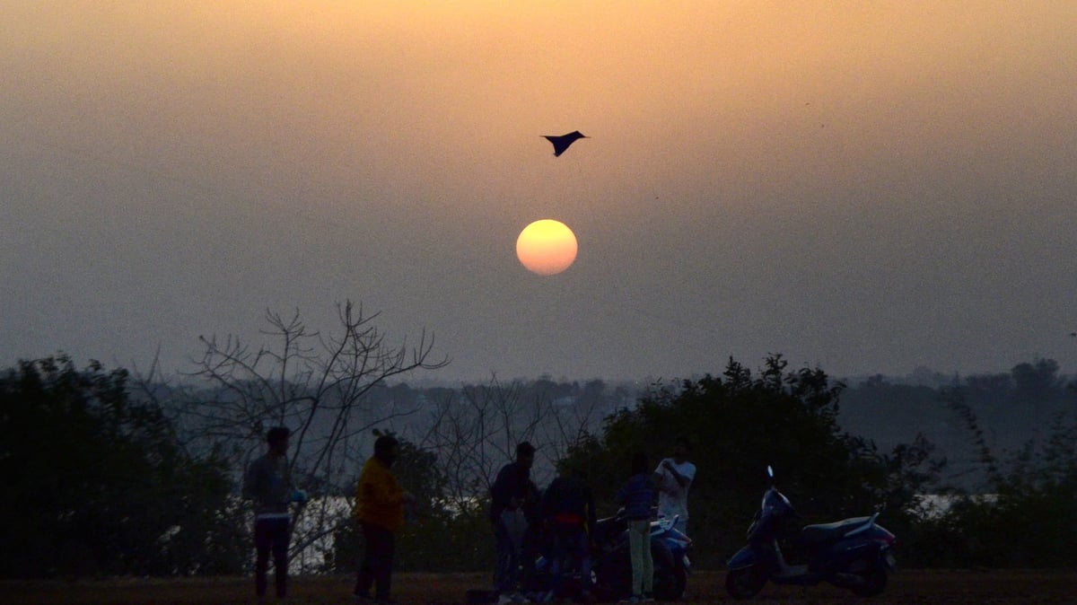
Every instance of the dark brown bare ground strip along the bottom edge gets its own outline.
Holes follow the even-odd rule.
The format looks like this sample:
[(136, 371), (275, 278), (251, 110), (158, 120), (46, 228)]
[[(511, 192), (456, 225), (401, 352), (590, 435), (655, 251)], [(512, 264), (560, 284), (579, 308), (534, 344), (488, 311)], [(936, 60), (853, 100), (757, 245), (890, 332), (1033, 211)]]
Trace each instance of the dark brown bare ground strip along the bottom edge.
[[(723, 603), (725, 574), (699, 572), (688, 580), (688, 599), (682, 603)], [(270, 586), (271, 586), (270, 579)], [(400, 574), (395, 596), (402, 604), (463, 603), (468, 588), (485, 588), (487, 574)], [(271, 588), (270, 588), (271, 590)], [(349, 578), (297, 578), (289, 605), (349, 605)], [(79, 581), (0, 582), (0, 603), (11, 605), (242, 605), (254, 603), (248, 578), (213, 579), (108, 579)], [(269, 600), (269, 603), (275, 603)], [(878, 597), (857, 599), (831, 587), (767, 586), (745, 603), (850, 604), (913, 603), (969, 604), (1077, 603), (1077, 571), (901, 571)]]

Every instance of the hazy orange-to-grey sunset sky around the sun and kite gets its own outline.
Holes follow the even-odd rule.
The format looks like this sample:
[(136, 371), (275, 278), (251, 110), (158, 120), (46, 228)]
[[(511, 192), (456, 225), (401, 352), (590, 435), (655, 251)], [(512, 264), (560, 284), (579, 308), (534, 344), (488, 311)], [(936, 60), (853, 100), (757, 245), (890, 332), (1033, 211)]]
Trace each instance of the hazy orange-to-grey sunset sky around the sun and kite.
[(346, 299), (433, 379), (1077, 366), (1077, 2), (0, 6), (2, 366)]

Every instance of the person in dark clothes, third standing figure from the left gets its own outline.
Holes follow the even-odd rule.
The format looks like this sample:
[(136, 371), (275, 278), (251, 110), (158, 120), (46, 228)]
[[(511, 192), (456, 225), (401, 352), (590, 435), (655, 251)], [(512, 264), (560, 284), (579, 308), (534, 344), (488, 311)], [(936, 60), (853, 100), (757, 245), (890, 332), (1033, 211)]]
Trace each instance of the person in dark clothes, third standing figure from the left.
[(490, 523), (493, 525), (498, 566), (493, 574), (500, 600), (510, 601), (510, 591), (519, 580), (520, 552), (528, 530), (528, 509), (533, 505), (531, 466), (535, 448), (528, 441), (516, 446), (516, 461), (501, 467), (490, 486)]

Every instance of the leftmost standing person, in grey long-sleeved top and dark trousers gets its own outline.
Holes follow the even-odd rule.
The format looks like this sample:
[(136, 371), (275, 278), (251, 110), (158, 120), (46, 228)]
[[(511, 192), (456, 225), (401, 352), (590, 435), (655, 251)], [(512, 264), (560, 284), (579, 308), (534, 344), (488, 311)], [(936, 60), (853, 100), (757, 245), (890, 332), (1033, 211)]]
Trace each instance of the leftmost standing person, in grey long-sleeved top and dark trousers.
[(291, 538), (288, 505), (307, 501), (305, 492), (292, 488), (288, 467), (289, 435), (283, 426), (270, 428), (266, 433), (268, 451), (252, 462), (243, 475), (243, 497), (254, 501), (254, 592), (258, 602), (266, 595), (270, 552), (277, 599), (288, 596), (288, 543)]

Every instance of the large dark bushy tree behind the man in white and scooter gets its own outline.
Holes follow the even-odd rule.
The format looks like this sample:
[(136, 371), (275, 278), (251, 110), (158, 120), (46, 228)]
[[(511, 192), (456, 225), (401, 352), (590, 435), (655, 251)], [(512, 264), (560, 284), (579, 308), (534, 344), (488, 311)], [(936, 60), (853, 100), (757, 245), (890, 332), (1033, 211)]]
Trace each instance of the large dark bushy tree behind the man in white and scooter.
[(716, 564), (741, 546), (768, 464), (809, 519), (900, 508), (911, 497), (893, 476), (911, 476), (924, 459), (909, 452), (887, 459), (870, 441), (843, 433), (837, 423), (842, 386), (817, 368), (789, 371), (781, 355), (769, 356), (757, 376), (730, 358), (719, 378), (655, 385), (634, 408), (607, 418), (601, 436), (581, 438), (563, 464), (583, 469), (600, 507), (612, 512), (610, 497), (631, 453), (643, 447), (659, 460), (675, 438), (687, 437), (697, 466), (689, 533), (704, 564)]

